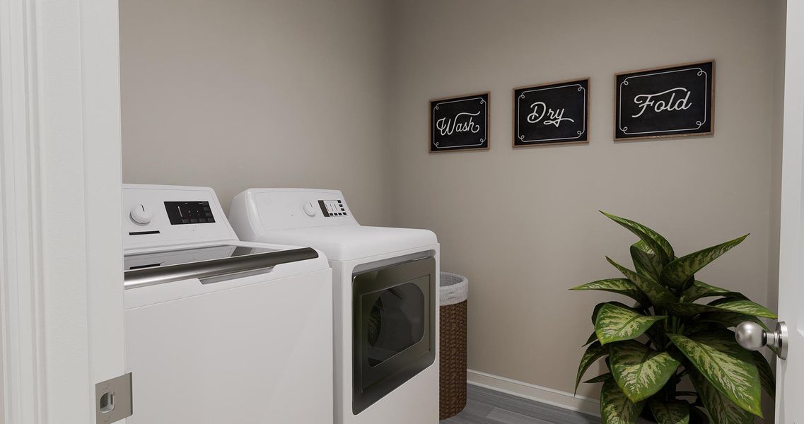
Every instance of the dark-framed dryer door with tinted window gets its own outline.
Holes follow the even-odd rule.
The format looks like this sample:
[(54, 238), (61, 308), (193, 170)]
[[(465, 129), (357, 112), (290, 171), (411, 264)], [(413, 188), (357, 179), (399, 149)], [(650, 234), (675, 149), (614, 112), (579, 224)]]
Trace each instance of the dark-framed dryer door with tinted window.
[(436, 261), (416, 259), (352, 277), (352, 412), (433, 364)]

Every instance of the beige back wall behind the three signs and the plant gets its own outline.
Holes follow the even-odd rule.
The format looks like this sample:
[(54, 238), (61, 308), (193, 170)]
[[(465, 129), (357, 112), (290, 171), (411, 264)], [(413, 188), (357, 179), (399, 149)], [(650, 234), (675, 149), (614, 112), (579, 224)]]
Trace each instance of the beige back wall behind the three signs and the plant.
[[(572, 392), (593, 305), (616, 296), (567, 289), (617, 276), (604, 256), (629, 263), (634, 243), (599, 209), (679, 253), (750, 232), (698, 276), (768, 300), (784, 25), (768, 4), (393, 3), (392, 222), (435, 230), (442, 269), (469, 277), (471, 369)], [(713, 137), (612, 141), (614, 73), (710, 58)], [(589, 145), (511, 149), (511, 88), (587, 76)], [(429, 154), (428, 100), (483, 91), (491, 149)]]

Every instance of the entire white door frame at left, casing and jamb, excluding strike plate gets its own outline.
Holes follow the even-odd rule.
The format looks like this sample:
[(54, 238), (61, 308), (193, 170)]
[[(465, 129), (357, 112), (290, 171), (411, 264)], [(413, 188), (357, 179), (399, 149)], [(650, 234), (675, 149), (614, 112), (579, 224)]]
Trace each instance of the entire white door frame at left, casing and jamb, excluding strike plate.
[(6, 424), (94, 423), (124, 372), (116, 1), (0, 0)]

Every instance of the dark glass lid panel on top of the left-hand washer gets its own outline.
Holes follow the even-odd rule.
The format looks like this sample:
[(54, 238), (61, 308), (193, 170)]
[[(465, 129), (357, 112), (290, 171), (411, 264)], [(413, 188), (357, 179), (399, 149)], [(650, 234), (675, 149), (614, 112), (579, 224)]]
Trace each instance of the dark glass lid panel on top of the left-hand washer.
[(179, 263), (200, 262), (206, 260), (226, 259), (235, 256), (256, 255), (276, 251), (264, 247), (243, 247), (221, 244), (209, 247), (194, 247), (191, 249), (178, 249), (174, 251), (159, 251), (150, 253), (137, 253), (125, 255), (123, 266), (125, 271), (177, 265)]

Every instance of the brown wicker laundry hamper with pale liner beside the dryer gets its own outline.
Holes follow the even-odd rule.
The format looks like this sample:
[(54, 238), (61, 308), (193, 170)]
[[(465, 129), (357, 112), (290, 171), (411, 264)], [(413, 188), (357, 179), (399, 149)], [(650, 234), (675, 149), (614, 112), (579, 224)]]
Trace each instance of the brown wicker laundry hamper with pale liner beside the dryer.
[(469, 280), (462, 275), (441, 272), (439, 295), (439, 419), (443, 420), (466, 407), (466, 303), (469, 298)]

